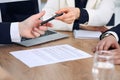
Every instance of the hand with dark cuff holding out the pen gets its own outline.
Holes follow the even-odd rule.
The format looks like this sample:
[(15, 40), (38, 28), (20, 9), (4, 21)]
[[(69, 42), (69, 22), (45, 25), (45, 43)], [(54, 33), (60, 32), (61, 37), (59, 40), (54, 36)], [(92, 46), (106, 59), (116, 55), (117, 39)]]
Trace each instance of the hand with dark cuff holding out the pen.
[(56, 17), (57, 20), (61, 20), (65, 23), (71, 24), (80, 16), (80, 9), (79, 8), (63, 8), (56, 12), (56, 14), (64, 13), (60, 17)]

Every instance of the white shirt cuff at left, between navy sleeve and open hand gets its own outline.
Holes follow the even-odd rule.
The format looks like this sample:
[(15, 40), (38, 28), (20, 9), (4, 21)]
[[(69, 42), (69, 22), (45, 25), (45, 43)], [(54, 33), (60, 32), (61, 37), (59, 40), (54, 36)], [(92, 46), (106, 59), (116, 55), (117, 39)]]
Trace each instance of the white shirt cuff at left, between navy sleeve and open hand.
[(11, 23), (10, 35), (11, 35), (12, 42), (20, 42), (21, 41), (18, 22)]

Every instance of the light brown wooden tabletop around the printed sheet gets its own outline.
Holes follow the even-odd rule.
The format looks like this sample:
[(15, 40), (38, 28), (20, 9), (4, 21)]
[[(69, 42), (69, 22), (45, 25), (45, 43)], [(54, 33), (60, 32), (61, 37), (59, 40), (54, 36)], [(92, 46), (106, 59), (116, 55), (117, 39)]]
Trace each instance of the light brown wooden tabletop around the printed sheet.
[[(69, 44), (93, 55), (92, 49), (96, 46), (98, 40), (74, 39), (71, 32), (64, 33), (68, 34), (70, 37), (33, 47), (27, 48), (14, 44), (9, 46), (1, 46), (0, 66), (2, 66), (16, 80), (93, 80), (91, 73), (93, 58), (29, 68), (9, 54), (10, 51)], [(120, 73), (119, 67), (120, 66), (116, 66), (117, 74)]]

